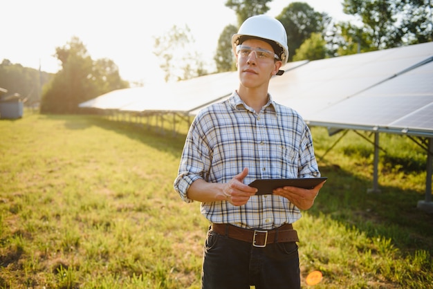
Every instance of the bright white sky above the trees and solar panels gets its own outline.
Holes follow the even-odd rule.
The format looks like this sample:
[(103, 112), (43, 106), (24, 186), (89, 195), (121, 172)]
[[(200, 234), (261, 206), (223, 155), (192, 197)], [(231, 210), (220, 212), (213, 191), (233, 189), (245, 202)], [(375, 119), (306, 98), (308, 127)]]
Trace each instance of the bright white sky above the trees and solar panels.
[[(299, 0), (302, 1), (302, 0)], [(317, 12), (347, 20), (343, 0), (304, 0)], [(228, 24), (237, 25), (226, 0), (8, 0), (0, 3), (0, 61), (56, 73), (53, 57), (78, 37), (92, 59), (109, 58), (120, 77), (129, 82), (163, 82), (163, 72), (153, 55), (154, 37), (174, 25), (187, 25), (205, 63), (213, 66), (219, 35)], [(276, 17), (293, 0), (268, 3)], [(289, 45), (290, 46), (290, 45)], [(210, 71), (212, 72), (212, 71)]]

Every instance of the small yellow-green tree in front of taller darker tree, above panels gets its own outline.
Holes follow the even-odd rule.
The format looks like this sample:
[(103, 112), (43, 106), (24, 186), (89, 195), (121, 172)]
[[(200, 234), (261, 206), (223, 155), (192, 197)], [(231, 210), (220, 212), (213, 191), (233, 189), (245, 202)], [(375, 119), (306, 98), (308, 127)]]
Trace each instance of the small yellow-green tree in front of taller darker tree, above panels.
[(327, 56), (326, 41), (322, 34), (313, 32), (300, 48), (297, 48), (293, 61), (324, 59)]

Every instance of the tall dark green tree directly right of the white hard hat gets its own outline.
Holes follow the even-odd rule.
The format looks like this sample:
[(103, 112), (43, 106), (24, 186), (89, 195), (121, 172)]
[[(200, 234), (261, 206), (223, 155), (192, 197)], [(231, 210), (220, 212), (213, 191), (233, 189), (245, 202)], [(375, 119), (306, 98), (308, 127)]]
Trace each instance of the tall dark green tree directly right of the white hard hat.
[(303, 2), (290, 3), (277, 19), (286, 28), (288, 48), (292, 57), (297, 48), (311, 37), (311, 33), (323, 33), (331, 22), (331, 17), (326, 13), (315, 12), (311, 6)]

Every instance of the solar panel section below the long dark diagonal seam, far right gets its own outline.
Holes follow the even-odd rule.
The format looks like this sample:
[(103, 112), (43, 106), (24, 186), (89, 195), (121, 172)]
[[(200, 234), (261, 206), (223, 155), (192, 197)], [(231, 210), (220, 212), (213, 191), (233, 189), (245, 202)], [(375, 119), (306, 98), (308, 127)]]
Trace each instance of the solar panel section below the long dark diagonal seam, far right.
[[(432, 52), (433, 53), (433, 52)], [(430, 130), (433, 135), (433, 62), (317, 111), (311, 122)]]

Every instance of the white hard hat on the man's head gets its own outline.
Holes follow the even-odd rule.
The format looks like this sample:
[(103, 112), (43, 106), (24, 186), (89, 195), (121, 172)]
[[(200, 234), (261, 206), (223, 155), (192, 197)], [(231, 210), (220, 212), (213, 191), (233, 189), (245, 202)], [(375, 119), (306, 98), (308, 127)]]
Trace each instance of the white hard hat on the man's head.
[[(243, 22), (237, 34), (232, 36), (232, 48), (236, 54), (236, 46), (243, 42), (243, 37), (260, 38), (273, 46), (283, 65), (288, 60), (287, 33), (283, 24), (268, 15), (252, 16)], [(277, 46), (275, 46), (277, 44)]]

